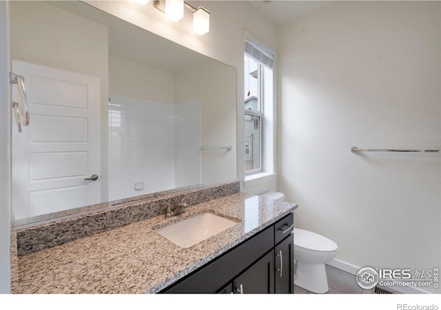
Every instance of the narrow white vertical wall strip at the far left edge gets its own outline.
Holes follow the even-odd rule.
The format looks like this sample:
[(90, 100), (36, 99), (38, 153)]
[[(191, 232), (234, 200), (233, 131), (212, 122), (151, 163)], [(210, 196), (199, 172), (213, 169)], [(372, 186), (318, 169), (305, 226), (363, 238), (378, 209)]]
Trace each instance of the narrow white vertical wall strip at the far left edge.
[(11, 236), (11, 107), (10, 3), (0, 1), (0, 293), (10, 293)]

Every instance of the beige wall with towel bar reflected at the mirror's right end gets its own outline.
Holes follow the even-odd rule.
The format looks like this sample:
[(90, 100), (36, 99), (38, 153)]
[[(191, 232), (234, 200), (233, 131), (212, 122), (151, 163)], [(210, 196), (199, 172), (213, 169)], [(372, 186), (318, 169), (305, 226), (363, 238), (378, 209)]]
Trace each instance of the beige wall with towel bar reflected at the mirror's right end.
[(201, 152), (202, 184), (236, 179), (236, 70), (207, 59), (176, 72), (176, 102), (200, 99), (201, 145), (232, 146)]

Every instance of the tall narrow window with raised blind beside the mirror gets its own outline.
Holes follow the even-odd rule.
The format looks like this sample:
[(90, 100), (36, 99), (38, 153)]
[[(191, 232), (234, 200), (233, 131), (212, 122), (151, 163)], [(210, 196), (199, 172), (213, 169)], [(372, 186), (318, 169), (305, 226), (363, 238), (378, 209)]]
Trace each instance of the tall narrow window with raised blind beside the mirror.
[[(273, 78), (272, 64), (273, 57), (267, 52), (263, 52), (258, 45), (252, 41), (245, 40), (245, 172), (253, 174), (262, 172), (264, 169), (263, 156), (267, 153), (265, 122), (268, 115), (272, 115), (272, 94)], [(271, 111), (271, 113), (266, 113)], [(268, 114), (268, 115), (267, 115)], [(272, 130), (271, 130), (272, 132)], [(272, 145), (271, 145), (272, 150)], [(272, 156), (271, 156), (272, 158)], [(272, 169), (272, 165), (271, 165)]]

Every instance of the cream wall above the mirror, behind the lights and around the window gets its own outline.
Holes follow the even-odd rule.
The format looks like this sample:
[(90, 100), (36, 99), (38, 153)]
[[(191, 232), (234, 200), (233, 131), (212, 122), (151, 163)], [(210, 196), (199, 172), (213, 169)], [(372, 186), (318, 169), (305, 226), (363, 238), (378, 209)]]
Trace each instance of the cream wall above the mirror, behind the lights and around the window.
[[(269, 48), (276, 49), (276, 27), (247, 1), (189, 1), (194, 6), (204, 6), (210, 12), (210, 31), (203, 36), (192, 32), (192, 16), (185, 10), (185, 17), (174, 23), (165, 14), (153, 8), (152, 1), (146, 6), (125, 1), (85, 1), (105, 12), (130, 21), (141, 28), (150, 30), (187, 48), (206, 56), (232, 65), (237, 70), (237, 178), (245, 179), (245, 156), (243, 138), (243, 39), (244, 31), (249, 30)], [(256, 189), (247, 187), (248, 192), (261, 193), (268, 189), (276, 189), (276, 179), (256, 185)]]

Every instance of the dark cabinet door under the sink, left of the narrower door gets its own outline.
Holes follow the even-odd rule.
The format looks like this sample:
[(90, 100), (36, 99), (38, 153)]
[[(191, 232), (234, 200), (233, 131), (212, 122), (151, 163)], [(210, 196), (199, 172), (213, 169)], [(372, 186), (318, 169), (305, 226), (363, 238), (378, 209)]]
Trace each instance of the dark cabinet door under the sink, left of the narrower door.
[(234, 293), (274, 293), (274, 251), (238, 276), (233, 287)]

